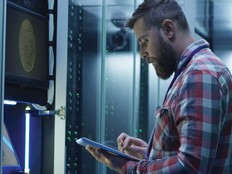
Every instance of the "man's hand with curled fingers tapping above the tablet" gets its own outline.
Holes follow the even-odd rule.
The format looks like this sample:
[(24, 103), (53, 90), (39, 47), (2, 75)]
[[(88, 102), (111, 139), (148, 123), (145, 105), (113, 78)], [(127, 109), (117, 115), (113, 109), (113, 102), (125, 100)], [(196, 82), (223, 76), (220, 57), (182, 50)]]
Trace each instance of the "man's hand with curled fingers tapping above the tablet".
[(148, 145), (143, 140), (131, 137), (126, 133), (121, 133), (117, 138), (117, 142), (118, 149), (121, 152), (124, 152), (139, 159), (145, 158)]

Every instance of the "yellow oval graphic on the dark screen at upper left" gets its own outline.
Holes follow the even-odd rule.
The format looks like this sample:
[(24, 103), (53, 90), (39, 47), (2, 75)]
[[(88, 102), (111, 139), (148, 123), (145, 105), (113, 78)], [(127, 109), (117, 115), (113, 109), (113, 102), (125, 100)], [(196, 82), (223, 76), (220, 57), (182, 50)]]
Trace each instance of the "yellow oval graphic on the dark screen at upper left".
[(28, 19), (23, 20), (19, 31), (19, 56), (26, 72), (30, 72), (35, 65), (36, 41), (34, 29)]

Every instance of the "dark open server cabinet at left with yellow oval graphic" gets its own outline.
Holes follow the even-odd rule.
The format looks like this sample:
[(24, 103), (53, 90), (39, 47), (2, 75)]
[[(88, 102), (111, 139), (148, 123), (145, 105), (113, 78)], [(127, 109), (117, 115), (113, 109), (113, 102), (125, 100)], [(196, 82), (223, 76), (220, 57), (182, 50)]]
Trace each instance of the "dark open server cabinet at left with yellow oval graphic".
[[(1, 77), (4, 79), (1, 83), (1, 92), (5, 88), (4, 95), (1, 95), (1, 106), (4, 99), (15, 100), (18, 104), (16, 106), (5, 105), (4, 109), (1, 108), (1, 118), (4, 115), (5, 123), (1, 123), (1, 126), (6, 125), (7, 128), (4, 129), (4, 135), (7, 132), (12, 141), (5, 139), (8, 136), (1, 136), (1, 140), (4, 142), (4, 145), (8, 145), (10, 149), (14, 149), (15, 153), (17, 153), (21, 171), (26, 169), (25, 173), (29, 172), (29, 170), (32, 174), (44, 173), (42, 170), (42, 158), (44, 156), (42, 145), (45, 144), (44, 147), (48, 149), (48, 147), (51, 147), (52, 143), (50, 142), (52, 142), (52, 139), (45, 141), (45, 138), (42, 136), (43, 133), (45, 136), (48, 134), (43, 129), (43, 123), (49, 119), (46, 120), (41, 117), (31, 118), (27, 122), (31, 124), (31, 132), (30, 135), (27, 134), (28, 136), (26, 136), (25, 132), (28, 129), (26, 130), (25, 128), (27, 117), (25, 108), (33, 104), (45, 105), (47, 102), (49, 76), (48, 1), (8, 0), (1, 1), (2, 4), (4, 4), (6, 10), (6, 20), (1, 20), (1, 27), (3, 28), (1, 34), (3, 34), (4, 30), (6, 31), (1, 35), (1, 43), (3, 43), (1, 49), (3, 49), (3, 52), (6, 51), (6, 56), (1, 53), (1, 61), (5, 59), (3, 64), (1, 64), (1, 70), (3, 70)], [(4, 47), (5, 45), (6, 48)], [(38, 79), (45, 83), (41, 86), (41, 81), (37, 81)], [(33, 116), (38, 115), (33, 114)], [(50, 126), (49, 130), (52, 130), (53, 127), (53, 125)], [(29, 140), (29, 138), (30, 141), (26, 143), (26, 140)], [(28, 151), (26, 147), (29, 147), (27, 148)], [(28, 152), (27, 155), (26, 151)], [(3, 152), (1, 154), (5, 154), (7, 159), (5, 151), (1, 152)], [(16, 154), (14, 155), (16, 156)], [(53, 161), (53, 158), (50, 159)], [(7, 160), (1, 159), (1, 162), (2, 160), (3, 163), (5, 162), (4, 166), (1, 165), (2, 168), (12, 167), (12, 169), (15, 169), (14, 166), (9, 166), (9, 163), (6, 162)]]

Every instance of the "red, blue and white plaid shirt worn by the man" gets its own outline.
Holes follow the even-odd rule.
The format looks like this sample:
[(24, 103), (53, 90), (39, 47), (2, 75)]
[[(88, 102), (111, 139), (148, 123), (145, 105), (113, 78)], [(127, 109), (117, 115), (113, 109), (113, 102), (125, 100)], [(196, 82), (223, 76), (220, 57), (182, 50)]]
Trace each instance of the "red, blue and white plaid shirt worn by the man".
[[(191, 44), (177, 70), (204, 40)], [(232, 77), (209, 48), (177, 77), (156, 114), (149, 160), (128, 161), (124, 173), (232, 173)]]

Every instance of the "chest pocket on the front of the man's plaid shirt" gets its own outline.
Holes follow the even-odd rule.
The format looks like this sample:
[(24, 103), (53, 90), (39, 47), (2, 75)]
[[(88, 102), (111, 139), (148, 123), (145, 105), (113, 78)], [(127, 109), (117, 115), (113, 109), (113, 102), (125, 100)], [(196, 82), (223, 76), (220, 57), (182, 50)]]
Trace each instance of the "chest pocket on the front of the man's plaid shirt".
[(153, 158), (172, 156), (176, 154), (179, 146), (179, 133), (171, 110), (159, 109), (156, 114), (156, 128), (152, 142)]

